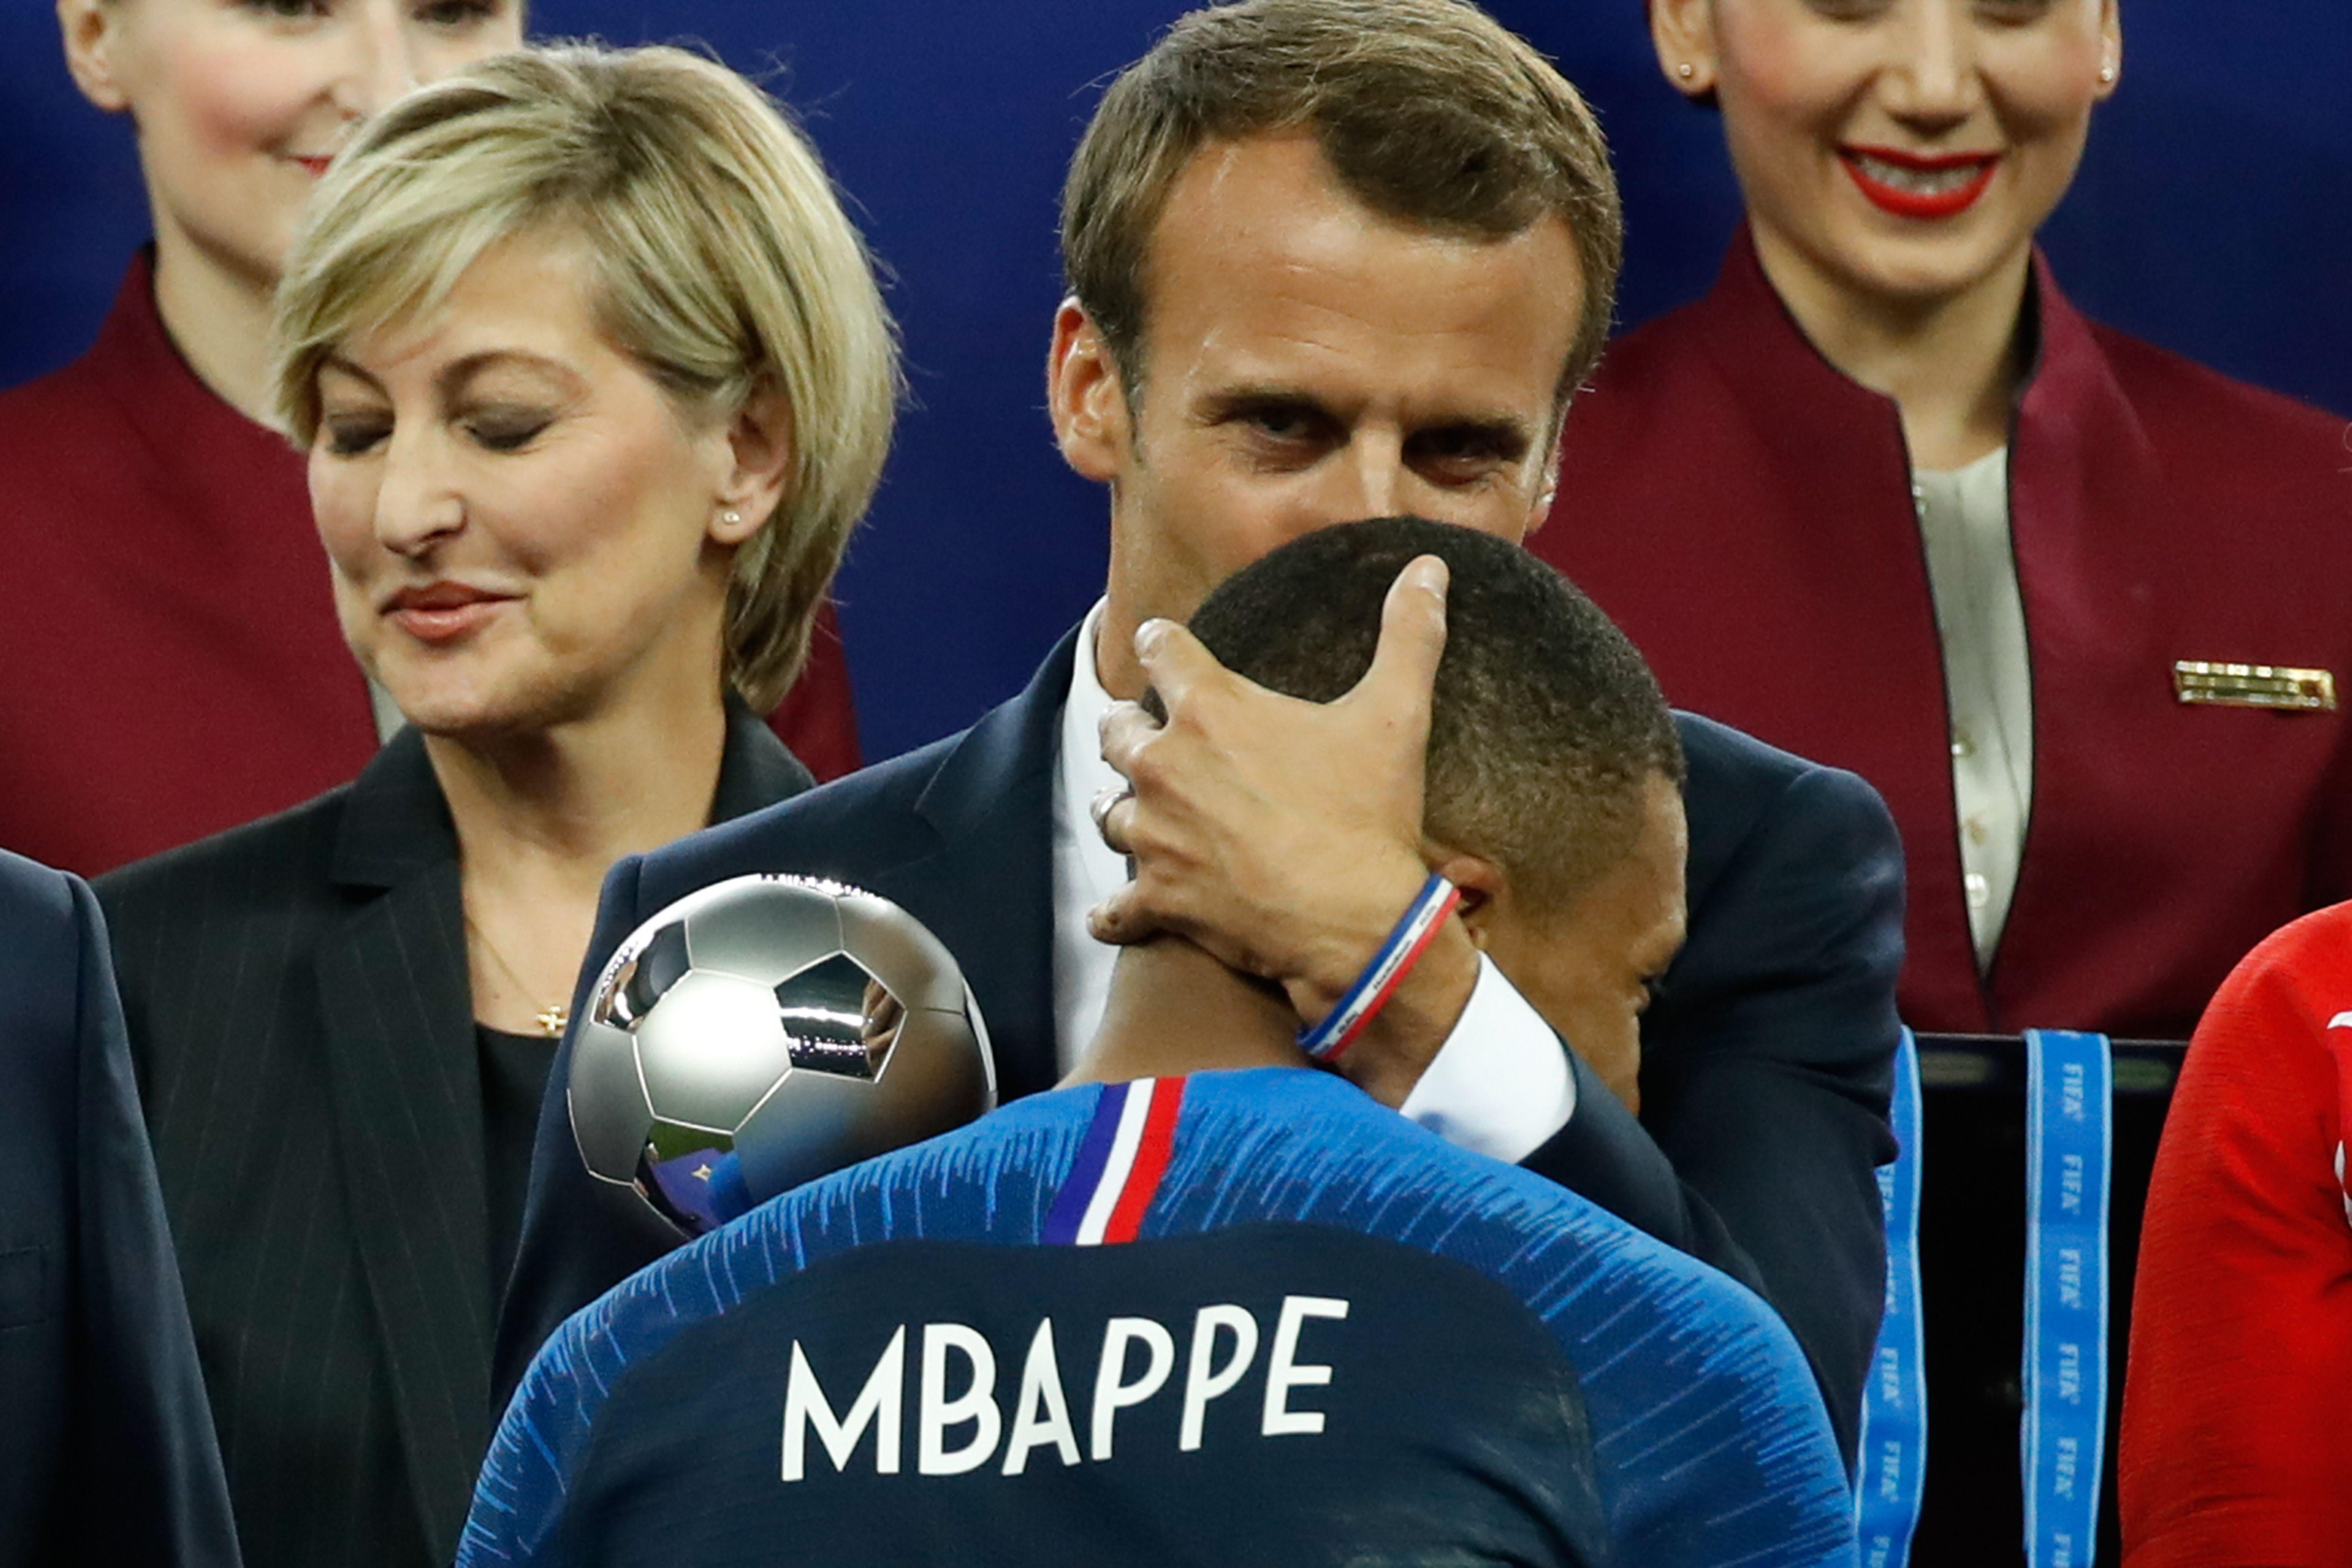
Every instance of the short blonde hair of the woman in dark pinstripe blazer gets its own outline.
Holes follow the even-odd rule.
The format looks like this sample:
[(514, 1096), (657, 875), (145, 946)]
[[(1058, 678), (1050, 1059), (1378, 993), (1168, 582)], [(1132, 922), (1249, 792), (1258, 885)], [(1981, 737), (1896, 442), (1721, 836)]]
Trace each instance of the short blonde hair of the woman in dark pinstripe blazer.
[(816, 153), (757, 87), (677, 49), (517, 54), (416, 94), (327, 176), (278, 292), (275, 404), (294, 437), (315, 444), (339, 343), (430, 313), (517, 237), (576, 247), (597, 324), (682, 418), (783, 395), (783, 501), (736, 550), (727, 597), (727, 677), (774, 708), (882, 475), (896, 397), (889, 317)]

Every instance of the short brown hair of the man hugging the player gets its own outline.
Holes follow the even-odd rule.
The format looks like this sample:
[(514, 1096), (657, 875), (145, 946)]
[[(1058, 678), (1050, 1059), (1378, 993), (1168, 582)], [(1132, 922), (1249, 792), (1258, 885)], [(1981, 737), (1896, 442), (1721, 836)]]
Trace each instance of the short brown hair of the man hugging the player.
[(1421, 228), (1503, 240), (1569, 226), (1585, 308), (1559, 400), (1616, 313), (1625, 216), (1609, 143), (1526, 40), (1463, 0), (1244, 0), (1190, 12), (1103, 94), (1061, 193), (1070, 294), (1141, 390), (1152, 233), (1209, 141), (1310, 129), (1341, 186)]

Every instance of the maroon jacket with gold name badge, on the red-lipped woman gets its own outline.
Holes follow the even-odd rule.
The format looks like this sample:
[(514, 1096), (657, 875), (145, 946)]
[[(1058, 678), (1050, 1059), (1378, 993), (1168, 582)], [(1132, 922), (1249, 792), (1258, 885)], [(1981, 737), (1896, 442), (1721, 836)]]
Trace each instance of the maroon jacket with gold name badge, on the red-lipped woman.
[(1748, 235), (1712, 294), (1609, 350), (1534, 543), (1677, 705), (1879, 788), (1912, 1027), (2187, 1039), (2265, 933), (2352, 896), (2345, 715), (2173, 696), (2176, 661), (2352, 682), (2352, 451), (2340, 418), (2084, 320), (2039, 256), (2030, 308), (2011, 529), (2034, 792), (1983, 980), (1900, 416), (1813, 350)]

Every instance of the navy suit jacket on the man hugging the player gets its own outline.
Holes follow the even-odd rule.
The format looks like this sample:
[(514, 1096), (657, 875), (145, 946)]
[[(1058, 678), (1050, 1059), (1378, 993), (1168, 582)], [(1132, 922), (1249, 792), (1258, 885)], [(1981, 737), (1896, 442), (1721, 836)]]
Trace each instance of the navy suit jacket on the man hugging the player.
[[(699, 886), (757, 870), (837, 877), (948, 943), (1004, 1098), (1051, 1086), (1051, 802), (1070, 646), (962, 736), (616, 865), (583, 992), (630, 929)], [(1903, 863), (1886, 809), (1851, 773), (1708, 719), (1679, 724), (1691, 929), (1644, 1018), (1642, 1121), (1578, 1063), (1576, 1117), (1526, 1164), (1764, 1293), (1813, 1359), (1851, 1455), (1886, 1276), (1872, 1166), (1893, 1157)], [(569, 1312), (675, 1244), (581, 1166), (564, 1060), (499, 1328), (501, 1394)]]

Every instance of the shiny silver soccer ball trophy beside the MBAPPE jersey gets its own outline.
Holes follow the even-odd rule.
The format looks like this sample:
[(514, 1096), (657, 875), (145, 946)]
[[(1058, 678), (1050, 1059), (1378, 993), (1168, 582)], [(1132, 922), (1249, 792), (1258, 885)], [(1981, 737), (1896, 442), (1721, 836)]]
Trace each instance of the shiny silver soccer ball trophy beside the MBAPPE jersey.
[(997, 1103), (948, 947), (887, 898), (809, 877), (734, 877), (637, 926), (564, 1088), (588, 1171), (689, 1237)]

